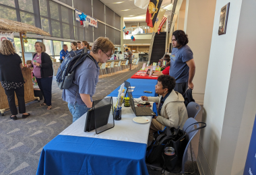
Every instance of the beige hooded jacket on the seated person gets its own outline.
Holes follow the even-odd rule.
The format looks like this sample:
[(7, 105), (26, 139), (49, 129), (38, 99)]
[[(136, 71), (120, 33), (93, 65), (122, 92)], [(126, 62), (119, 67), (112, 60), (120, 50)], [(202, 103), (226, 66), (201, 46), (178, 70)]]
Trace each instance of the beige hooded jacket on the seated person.
[[(156, 102), (160, 104), (162, 96), (148, 97), (148, 101)], [(161, 114), (158, 114), (156, 120), (160, 122), (164, 127), (175, 127), (183, 129), (183, 125), (187, 120), (187, 108), (184, 104), (184, 98), (179, 92), (172, 90), (170, 95), (164, 101), (162, 105)]]

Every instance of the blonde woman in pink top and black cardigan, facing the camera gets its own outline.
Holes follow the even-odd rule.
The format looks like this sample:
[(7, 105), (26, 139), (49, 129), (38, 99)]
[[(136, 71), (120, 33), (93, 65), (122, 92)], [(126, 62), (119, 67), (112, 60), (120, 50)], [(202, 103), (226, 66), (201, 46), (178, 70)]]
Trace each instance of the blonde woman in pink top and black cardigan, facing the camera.
[(45, 52), (45, 46), (42, 42), (34, 44), (36, 54), (33, 56), (32, 64), (28, 67), (34, 67), (33, 73), (36, 77), (38, 86), (44, 97), (44, 102), (40, 106), (48, 106), (47, 110), (52, 108), (52, 83), (53, 83), (53, 61), (50, 56)]

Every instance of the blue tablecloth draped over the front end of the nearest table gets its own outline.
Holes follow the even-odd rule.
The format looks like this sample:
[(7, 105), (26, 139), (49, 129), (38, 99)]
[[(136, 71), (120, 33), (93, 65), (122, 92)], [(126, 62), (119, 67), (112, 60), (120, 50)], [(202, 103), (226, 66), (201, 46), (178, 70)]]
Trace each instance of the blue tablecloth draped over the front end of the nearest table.
[(37, 175), (148, 174), (147, 145), (57, 135), (42, 149)]

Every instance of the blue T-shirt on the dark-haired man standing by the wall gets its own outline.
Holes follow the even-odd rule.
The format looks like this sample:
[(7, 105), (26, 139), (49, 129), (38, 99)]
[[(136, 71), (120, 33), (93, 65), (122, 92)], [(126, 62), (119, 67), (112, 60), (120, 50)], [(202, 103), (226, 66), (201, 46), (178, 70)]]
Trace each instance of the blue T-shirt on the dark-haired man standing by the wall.
[(193, 59), (193, 52), (185, 44), (181, 48), (173, 48), (170, 55), (170, 76), (176, 79), (176, 83), (185, 83), (189, 80), (189, 66), (186, 61)]

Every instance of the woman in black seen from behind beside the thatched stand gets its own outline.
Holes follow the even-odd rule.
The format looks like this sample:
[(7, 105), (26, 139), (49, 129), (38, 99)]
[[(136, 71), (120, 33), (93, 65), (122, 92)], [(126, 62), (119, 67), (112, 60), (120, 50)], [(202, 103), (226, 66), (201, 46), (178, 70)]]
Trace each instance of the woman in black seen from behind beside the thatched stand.
[[(13, 44), (9, 40), (3, 40), (0, 51), (0, 81), (8, 99), (11, 110), (10, 118), (17, 120), (17, 108), (15, 104), (15, 94), (18, 99), (19, 112), (22, 118), (30, 116), (26, 113), (24, 99), (24, 77), (22, 75), (22, 59), (15, 53)], [(15, 94), (14, 94), (15, 92)]]

